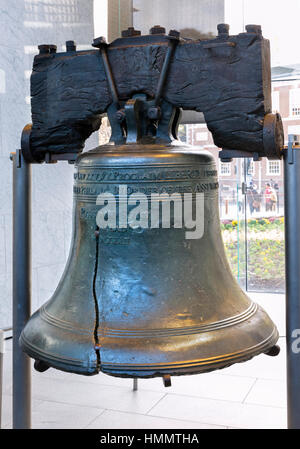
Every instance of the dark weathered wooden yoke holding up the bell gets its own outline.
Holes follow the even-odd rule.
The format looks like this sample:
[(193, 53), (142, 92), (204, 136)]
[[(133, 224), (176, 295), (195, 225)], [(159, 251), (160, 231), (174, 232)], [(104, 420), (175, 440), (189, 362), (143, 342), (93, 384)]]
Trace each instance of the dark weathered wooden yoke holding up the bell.
[[(163, 28), (147, 36), (130, 28), (109, 45), (95, 39), (97, 49), (76, 51), (70, 41), (64, 53), (39, 46), (31, 76), (32, 157), (75, 158), (104, 113), (116, 119), (112, 125), (121, 127), (119, 136), (126, 140), (125, 103), (142, 95), (152, 129), (169, 119), (166, 105), (201, 111), (216, 146), (280, 158), (283, 130), (280, 116), (271, 114), (269, 41), (260, 26), (248, 25), (237, 36), (228, 30), (221, 24), (215, 39), (190, 40), (174, 31), (166, 35)], [(177, 39), (172, 53), (170, 39)]]

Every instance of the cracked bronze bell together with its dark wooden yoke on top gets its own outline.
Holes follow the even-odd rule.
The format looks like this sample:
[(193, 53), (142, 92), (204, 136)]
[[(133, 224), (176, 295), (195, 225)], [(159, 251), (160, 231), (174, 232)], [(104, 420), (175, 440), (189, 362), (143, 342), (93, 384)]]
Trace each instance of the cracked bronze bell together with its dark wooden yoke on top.
[(104, 113), (115, 143), (76, 160), (69, 260), (20, 337), (39, 371), (163, 376), (167, 384), (170, 375), (278, 352), (275, 325), (226, 259), (214, 159), (172, 140), (180, 108), (191, 109), (204, 112), (223, 159), (234, 157), (231, 148), (281, 154), (280, 117), (268, 114), (268, 42), (259, 33), (228, 41), (221, 28), (222, 42), (131, 29), (110, 45), (96, 38), (99, 52), (35, 59), (37, 160), (81, 151)]

